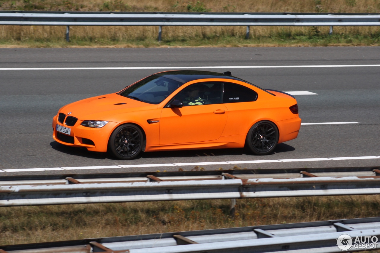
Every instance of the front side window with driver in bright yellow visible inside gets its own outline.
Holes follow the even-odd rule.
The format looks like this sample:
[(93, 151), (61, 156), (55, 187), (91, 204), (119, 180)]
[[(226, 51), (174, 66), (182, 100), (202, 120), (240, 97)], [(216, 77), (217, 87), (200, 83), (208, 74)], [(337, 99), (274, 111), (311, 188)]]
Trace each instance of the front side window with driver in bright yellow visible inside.
[(222, 87), (222, 83), (218, 82), (195, 83), (180, 91), (174, 99), (184, 103), (184, 106), (221, 104)]

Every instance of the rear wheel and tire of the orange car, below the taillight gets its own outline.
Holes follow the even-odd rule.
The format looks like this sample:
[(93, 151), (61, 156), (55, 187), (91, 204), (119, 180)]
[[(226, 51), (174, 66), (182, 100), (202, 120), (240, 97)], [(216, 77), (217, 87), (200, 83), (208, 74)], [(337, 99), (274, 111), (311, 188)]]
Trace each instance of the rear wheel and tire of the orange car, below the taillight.
[(279, 141), (279, 130), (271, 121), (259, 121), (249, 129), (245, 140), (255, 155), (264, 156), (273, 151)]

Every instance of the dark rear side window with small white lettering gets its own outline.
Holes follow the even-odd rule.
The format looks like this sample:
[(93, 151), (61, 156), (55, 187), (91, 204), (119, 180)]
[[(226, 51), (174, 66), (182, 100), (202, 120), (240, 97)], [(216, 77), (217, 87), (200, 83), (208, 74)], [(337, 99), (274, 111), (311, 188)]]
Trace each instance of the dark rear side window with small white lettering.
[(257, 99), (256, 91), (236, 83), (224, 83), (223, 104), (251, 102)]

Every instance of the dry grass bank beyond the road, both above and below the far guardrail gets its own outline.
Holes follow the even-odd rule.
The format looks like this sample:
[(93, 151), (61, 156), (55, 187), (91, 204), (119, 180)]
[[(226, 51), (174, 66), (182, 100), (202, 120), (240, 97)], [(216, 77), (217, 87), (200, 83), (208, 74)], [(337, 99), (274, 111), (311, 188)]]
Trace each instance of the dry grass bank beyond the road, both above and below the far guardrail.
[[(213, 11), (379, 13), (380, 0), (2, 0), (0, 10), (44, 11)], [(380, 43), (378, 27), (65, 27), (0, 26), (2, 47), (160, 47), (160, 46), (371, 46)]]

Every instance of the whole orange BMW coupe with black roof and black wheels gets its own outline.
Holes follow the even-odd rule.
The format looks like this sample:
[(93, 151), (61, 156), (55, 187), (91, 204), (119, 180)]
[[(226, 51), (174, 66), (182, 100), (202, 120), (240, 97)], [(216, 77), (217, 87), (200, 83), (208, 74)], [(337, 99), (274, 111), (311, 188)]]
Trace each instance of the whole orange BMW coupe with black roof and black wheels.
[(264, 90), (231, 72), (165, 71), (117, 93), (60, 108), (55, 141), (133, 159), (141, 151), (247, 147), (266, 155), (297, 137), (290, 94)]

